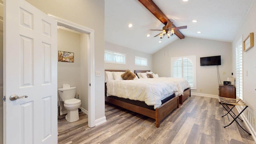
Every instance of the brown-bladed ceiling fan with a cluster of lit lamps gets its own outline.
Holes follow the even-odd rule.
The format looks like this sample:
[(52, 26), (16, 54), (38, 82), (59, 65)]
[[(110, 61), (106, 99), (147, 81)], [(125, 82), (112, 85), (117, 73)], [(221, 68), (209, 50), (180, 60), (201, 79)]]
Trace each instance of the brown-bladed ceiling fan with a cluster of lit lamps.
[[(171, 21), (167, 22), (166, 26), (163, 26), (162, 30), (156, 30), (156, 31), (162, 31), (159, 34), (157, 34), (156, 36), (160, 35), (161, 39), (164, 38), (164, 36), (167, 36), (167, 38), (170, 38), (170, 36), (175, 34), (174, 30), (180, 30), (180, 29), (187, 28), (187, 26), (179, 26), (179, 27), (175, 27), (175, 28), (172, 28), (171, 26), (172, 26), (172, 22)], [(154, 37), (156, 37), (156, 36), (154, 36)]]

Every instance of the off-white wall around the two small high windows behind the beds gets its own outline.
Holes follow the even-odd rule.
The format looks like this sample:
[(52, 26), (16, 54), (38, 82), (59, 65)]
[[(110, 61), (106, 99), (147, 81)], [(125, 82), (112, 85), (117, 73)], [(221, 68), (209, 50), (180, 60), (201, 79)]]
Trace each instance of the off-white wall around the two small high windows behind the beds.
[[(152, 54), (105, 42), (105, 50), (126, 54), (126, 64), (105, 63), (105, 70), (152, 70)], [(148, 58), (148, 66), (135, 66), (135, 56)]]

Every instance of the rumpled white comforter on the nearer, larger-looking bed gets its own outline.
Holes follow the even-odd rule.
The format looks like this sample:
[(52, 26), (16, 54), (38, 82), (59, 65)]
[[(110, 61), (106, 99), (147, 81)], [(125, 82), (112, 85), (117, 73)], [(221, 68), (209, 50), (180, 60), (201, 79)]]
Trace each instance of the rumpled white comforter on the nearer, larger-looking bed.
[(167, 79), (140, 78), (138, 80), (110, 80), (107, 82), (107, 96), (118, 96), (145, 102), (159, 108), (161, 100), (178, 91), (176, 84)]

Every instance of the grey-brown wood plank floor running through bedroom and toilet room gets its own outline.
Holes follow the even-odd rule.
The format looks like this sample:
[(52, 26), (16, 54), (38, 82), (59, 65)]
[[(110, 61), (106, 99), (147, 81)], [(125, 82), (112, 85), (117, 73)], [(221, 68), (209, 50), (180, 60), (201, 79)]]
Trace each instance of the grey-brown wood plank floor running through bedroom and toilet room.
[(58, 144), (228, 144), (232, 138), (255, 144), (235, 122), (223, 128), (228, 124), (224, 112), (218, 99), (191, 96), (156, 128), (154, 119), (106, 103), (107, 122), (94, 128), (88, 128), (82, 112), (72, 123), (60, 116)]

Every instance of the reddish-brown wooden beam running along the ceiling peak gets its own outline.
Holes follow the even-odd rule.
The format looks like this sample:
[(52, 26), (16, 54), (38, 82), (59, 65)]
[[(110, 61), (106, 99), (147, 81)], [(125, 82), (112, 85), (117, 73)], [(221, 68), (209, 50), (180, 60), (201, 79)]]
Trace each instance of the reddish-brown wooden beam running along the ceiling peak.
[[(158, 8), (158, 6), (153, 2), (153, 0), (138, 0), (142, 5), (144, 5), (160, 22), (164, 25), (167, 24), (170, 20), (167, 16)], [(174, 24), (172, 24), (171, 28), (176, 28)], [(178, 36), (180, 39), (185, 38), (185, 36), (180, 32), (180, 30), (174, 30), (174, 34)]]

